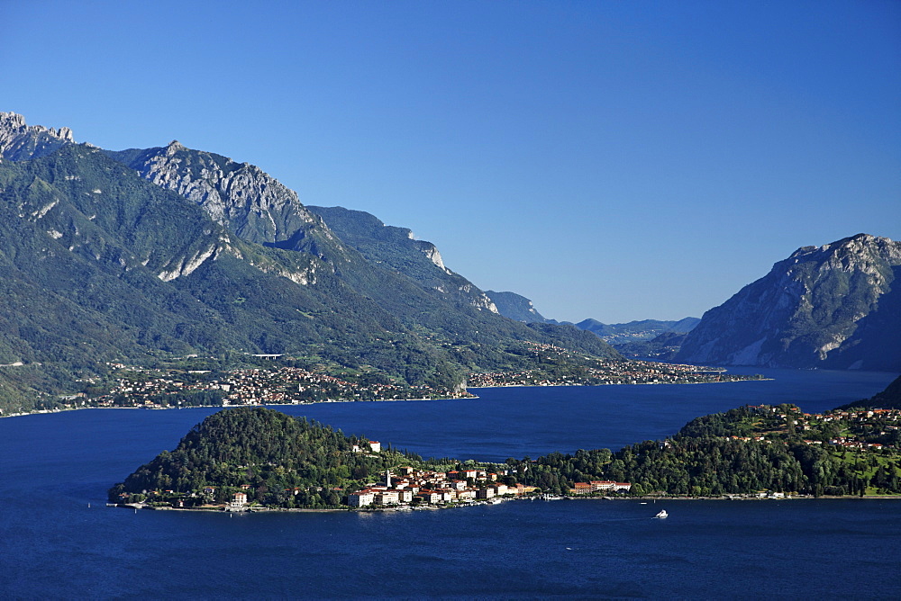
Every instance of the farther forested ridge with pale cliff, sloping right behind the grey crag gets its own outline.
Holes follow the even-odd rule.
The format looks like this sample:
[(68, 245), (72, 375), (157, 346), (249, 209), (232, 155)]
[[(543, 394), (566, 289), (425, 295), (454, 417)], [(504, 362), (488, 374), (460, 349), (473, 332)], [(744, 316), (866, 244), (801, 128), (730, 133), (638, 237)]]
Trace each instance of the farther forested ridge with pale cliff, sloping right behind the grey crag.
[(410, 229), (385, 225), (365, 211), (344, 207), (308, 206), (307, 209), (322, 217), (341, 240), (369, 261), (404, 274), (423, 288), (439, 292), (448, 301), (498, 312), (485, 292), (448, 269), (438, 248), (431, 242), (415, 239)]

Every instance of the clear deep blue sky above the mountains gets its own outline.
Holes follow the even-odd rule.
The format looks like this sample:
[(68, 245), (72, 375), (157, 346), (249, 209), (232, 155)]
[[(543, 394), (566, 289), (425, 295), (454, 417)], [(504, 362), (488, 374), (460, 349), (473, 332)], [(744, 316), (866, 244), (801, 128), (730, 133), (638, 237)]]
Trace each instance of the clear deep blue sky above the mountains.
[(901, 239), (895, 0), (0, 0), (0, 111), (256, 164), (560, 320)]

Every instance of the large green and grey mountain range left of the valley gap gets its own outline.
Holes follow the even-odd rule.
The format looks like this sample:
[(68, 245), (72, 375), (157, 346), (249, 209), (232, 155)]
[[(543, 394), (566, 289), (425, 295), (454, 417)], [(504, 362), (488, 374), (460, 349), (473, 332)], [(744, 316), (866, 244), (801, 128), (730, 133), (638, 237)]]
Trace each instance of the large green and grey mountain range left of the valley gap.
[(525, 341), (619, 356), (504, 318), (431, 244), (313, 211), (256, 166), (176, 141), (105, 151), (14, 113), (0, 159), (0, 408), (189, 354), (287, 353), (449, 391), (522, 368)]

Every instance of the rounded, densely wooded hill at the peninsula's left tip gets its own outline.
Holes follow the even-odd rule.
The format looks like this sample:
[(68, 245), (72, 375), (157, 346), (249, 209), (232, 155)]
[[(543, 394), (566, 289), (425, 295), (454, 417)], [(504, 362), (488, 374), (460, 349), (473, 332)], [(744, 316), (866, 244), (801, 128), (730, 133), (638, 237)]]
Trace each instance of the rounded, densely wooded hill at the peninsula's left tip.
[[(116, 502), (122, 493), (214, 489), (194, 498), (199, 505), (228, 500), (243, 485), (260, 503), (337, 506), (340, 496), (333, 488), (359, 488), (387, 468), (409, 462), (415, 459), (390, 450), (369, 453), (369, 441), (304, 417), (234, 408), (207, 417), (173, 451), (160, 453), (110, 489), (109, 497)], [(303, 497), (296, 498), (294, 489), (303, 489)]]

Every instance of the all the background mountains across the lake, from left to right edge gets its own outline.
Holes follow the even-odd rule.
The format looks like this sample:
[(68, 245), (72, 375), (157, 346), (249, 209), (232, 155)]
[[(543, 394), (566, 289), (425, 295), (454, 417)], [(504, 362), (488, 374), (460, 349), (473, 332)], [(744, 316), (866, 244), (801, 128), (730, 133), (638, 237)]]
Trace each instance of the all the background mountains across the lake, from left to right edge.
[[(685, 363), (901, 372), (901, 243), (802, 247), (699, 321), (578, 324), (482, 291), (363, 211), (305, 206), (257, 166), (112, 151), (0, 112), (0, 410), (102, 386), (110, 363), (252, 354), (460, 392), (529, 344)], [(616, 345), (607, 344), (608, 342)]]

